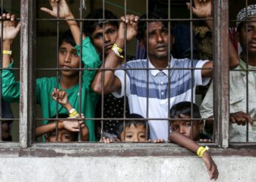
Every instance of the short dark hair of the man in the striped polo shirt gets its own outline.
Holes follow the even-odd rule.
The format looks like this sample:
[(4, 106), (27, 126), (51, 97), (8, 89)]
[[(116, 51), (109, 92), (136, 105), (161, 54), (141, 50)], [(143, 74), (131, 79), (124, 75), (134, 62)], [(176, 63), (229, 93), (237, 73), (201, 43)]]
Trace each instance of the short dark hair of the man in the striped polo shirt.
[[(144, 33), (147, 29), (147, 21), (145, 20), (142, 20), (142, 19), (154, 19), (154, 20), (151, 20), (151, 21), (148, 21), (148, 23), (151, 23), (151, 22), (162, 22), (163, 25), (165, 26), (165, 28), (168, 28), (168, 22), (167, 21), (163, 21), (162, 19), (167, 19), (166, 15), (164, 14), (159, 14), (159, 13), (151, 13), (151, 12), (148, 12), (148, 17), (147, 15), (142, 15), (140, 17), (140, 21), (138, 23), (138, 33), (137, 33), (137, 39), (139, 41), (143, 40), (144, 38)], [(173, 28), (174, 26), (173, 25), (170, 25), (170, 29), (171, 29), (171, 33), (173, 31)]]

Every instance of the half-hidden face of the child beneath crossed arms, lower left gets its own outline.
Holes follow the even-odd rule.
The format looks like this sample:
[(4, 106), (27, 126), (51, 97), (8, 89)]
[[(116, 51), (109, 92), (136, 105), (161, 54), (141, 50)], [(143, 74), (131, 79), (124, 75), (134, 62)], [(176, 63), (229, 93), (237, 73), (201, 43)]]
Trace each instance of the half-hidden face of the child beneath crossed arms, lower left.
[(56, 132), (49, 132), (48, 142), (70, 142), (75, 141), (75, 133), (66, 129), (58, 130), (58, 141), (56, 141)]

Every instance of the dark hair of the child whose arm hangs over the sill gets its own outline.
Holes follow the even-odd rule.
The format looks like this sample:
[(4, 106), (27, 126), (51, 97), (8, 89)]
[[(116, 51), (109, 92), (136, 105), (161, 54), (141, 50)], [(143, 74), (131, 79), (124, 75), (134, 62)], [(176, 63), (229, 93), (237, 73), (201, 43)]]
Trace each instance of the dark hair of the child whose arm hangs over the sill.
[[(198, 106), (193, 103), (193, 118), (201, 118)], [(170, 118), (182, 118), (181, 114), (191, 116), (191, 102), (176, 103), (170, 108)]]

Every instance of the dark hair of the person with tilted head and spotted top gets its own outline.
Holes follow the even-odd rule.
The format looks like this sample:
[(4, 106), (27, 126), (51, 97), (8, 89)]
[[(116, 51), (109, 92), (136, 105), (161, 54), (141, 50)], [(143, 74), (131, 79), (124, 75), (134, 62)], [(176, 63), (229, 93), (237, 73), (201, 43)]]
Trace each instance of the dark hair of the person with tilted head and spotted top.
[[(102, 19), (103, 18), (103, 9), (95, 9), (89, 15), (87, 15), (86, 19)], [(91, 38), (91, 34), (95, 31), (97, 25), (102, 28), (103, 23), (109, 23), (110, 25), (116, 26), (118, 28), (118, 21), (108, 21), (108, 19), (118, 19), (113, 12), (105, 9), (105, 21), (99, 20), (86, 20), (83, 22), (83, 31), (86, 33), (86, 36)]]

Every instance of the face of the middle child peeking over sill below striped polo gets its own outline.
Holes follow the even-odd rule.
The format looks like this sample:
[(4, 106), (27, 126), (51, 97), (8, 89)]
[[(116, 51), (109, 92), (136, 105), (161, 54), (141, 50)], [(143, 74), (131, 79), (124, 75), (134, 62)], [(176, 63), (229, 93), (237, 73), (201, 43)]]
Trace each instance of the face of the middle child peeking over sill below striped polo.
[(132, 124), (130, 127), (125, 128), (125, 134), (124, 131), (121, 132), (120, 139), (126, 142), (145, 142), (147, 141), (146, 127), (142, 124), (138, 124), (137, 127), (135, 127), (135, 125)]

